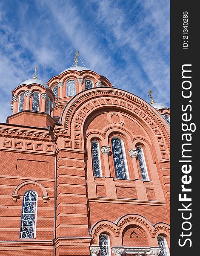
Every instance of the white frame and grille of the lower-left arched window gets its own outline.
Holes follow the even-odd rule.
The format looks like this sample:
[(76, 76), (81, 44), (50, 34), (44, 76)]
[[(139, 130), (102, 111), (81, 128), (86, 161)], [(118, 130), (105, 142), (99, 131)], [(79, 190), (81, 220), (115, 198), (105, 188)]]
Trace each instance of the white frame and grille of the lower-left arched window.
[[(25, 202), (26, 202), (26, 194), (29, 193), (29, 192), (32, 192), (35, 194), (35, 202), (34, 202), (34, 210), (33, 210), (33, 215), (34, 215), (34, 218), (33, 218), (33, 225), (27, 225), (26, 222), (24, 223), (24, 218), (25, 216), (29, 215), (29, 214), (26, 214), (26, 212), (24, 212), (25, 210)], [(37, 195), (37, 192), (33, 191), (33, 190), (28, 190), (24, 193), (23, 195), (23, 203), (22, 203), (22, 213), (21, 213), (21, 224), (20, 224), (20, 239), (34, 239), (35, 236), (36, 236), (36, 224), (37, 224), (37, 199), (38, 199), (38, 195)], [(30, 202), (27, 200), (27, 202)], [(32, 216), (32, 215), (31, 215)], [(23, 225), (25, 224), (25, 225)], [(23, 230), (28, 227), (31, 229), (31, 227), (33, 228), (33, 232), (32, 232), (32, 235), (30, 237), (23, 237)], [(24, 228), (24, 229), (23, 229)]]

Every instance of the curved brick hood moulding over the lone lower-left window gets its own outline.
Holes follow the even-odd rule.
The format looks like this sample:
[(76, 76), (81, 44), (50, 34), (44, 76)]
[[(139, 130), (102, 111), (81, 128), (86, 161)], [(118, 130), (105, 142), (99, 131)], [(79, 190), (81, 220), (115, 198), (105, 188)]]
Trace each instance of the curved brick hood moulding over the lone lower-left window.
[(18, 192), (19, 190), (23, 187), (23, 186), (27, 186), (27, 185), (36, 185), (36, 186), (39, 186), (40, 189), (42, 190), (43, 192), (43, 202), (44, 203), (47, 203), (47, 200), (49, 200), (49, 196), (48, 196), (48, 193), (46, 191), (46, 188), (40, 184), (39, 182), (35, 181), (35, 180), (27, 180), (27, 181), (24, 181), (22, 183), (20, 183), (15, 189), (14, 189), (14, 193), (12, 195), (12, 198), (13, 198), (13, 201), (17, 201), (17, 199), (20, 197), (18, 195)]

